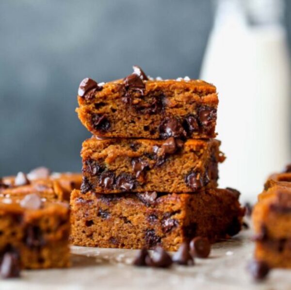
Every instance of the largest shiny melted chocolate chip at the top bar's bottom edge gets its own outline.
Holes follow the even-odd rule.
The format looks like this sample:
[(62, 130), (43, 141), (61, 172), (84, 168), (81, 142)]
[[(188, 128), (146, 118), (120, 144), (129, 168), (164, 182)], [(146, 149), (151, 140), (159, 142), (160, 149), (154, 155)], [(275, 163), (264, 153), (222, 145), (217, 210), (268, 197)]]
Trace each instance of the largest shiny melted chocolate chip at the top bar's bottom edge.
[(186, 131), (184, 130), (181, 121), (175, 117), (166, 117), (160, 127), (160, 137), (166, 139), (169, 137), (184, 138)]

